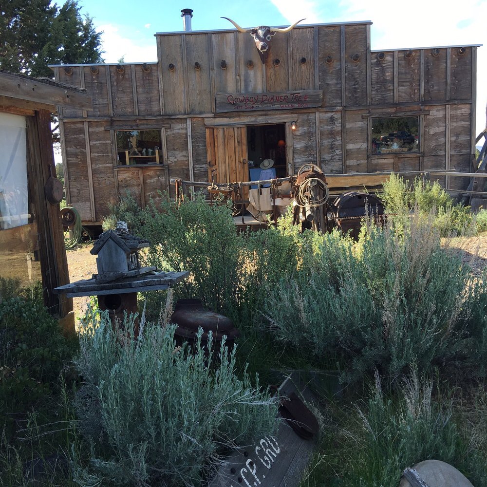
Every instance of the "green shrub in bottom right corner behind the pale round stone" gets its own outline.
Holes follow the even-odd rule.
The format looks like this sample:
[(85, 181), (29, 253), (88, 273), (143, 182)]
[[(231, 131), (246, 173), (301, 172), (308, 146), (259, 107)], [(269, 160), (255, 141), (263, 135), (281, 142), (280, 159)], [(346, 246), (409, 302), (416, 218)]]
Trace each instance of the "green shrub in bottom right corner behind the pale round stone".
[(351, 415), (339, 452), (344, 482), (337, 484), (397, 486), (404, 468), (435, 459), (463, 471), (475, 486), (486, 486), (486, 452), (471, 441), (477, 426), (455, 411), (450, 397), (435, 397), (431, 381), (420, 383), (412, 375), (391, 398), (376, 379), (372, 397)]

